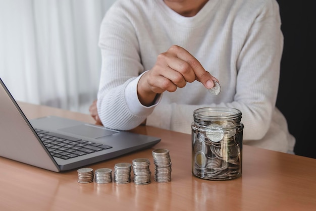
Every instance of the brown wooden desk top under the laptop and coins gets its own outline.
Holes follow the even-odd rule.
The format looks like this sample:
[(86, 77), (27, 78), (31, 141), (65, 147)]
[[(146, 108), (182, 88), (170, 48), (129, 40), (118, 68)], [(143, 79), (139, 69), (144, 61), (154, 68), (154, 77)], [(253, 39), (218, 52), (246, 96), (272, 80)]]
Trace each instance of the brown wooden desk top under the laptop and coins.
[[(21, 108), (28, 118), (56, 115), (94, 123), (89, 115), (60, 109), (28, 103)], [(133, 132), (162, 138), (153, 148), (170, 150), (171, 182), (154, 181), (153, 148), (89, 166), (114, 170), (116, 163), (147, 157), (148, 185), (82, 184), (76, 170), (55, 173), (0, 157), (0, 210), (316, 210), (315, 159), (244, 145), (242, 177), (207, 181), (191, 174), (189, 134), (153, 127)]]

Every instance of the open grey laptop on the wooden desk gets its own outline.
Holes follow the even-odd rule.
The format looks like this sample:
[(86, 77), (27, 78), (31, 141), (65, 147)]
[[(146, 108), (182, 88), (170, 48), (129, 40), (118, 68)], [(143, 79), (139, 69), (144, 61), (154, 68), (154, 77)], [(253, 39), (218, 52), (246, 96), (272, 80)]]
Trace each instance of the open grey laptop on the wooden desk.
[(149, 148), (161, 138), (46, 116), (28, 120), (0, 78), (0, 156), (63, 172)]

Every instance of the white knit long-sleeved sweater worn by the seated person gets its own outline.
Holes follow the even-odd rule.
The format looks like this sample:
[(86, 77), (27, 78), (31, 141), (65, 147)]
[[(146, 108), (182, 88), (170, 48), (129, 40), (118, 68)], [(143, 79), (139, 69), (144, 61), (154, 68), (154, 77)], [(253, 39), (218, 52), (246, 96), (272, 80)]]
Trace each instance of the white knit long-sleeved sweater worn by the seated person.
[[(275, 108), (280, 26), (275, 0), (209, 0), (194, 17), (179, 15), (163, 0), (117, 0), (100, 27), (97, 108), (102, 124), (129, 130), (147, 119), (150, 126), (191, 133), (195, 109), (232, 107), (242, 112), (244, 144), (293, 150), (295, 139)], [(194, 81), (145, 107), (137, 97), (140, 75), (173, 44), (187, 49), (218, 78), (222, 91), (210, 95)]]

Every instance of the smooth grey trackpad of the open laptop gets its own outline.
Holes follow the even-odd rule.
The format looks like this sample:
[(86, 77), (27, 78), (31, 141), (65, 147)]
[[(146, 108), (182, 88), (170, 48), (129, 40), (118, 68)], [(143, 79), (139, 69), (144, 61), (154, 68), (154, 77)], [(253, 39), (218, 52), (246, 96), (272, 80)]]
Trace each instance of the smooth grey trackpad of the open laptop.
[(118, 133), (118, 131), (115, 131), (115, 130), (109, 130), (109, 129), (105, 129), (105, 128), (101, 128), (101, 127), (93, 126), (93, 125), (88, 125), (88, 124), (63, 128), (60, 130), (67, 133), (72, 133), (75, 135), (85, 136), (88, 138), (100, 138), (103, 136), (108, 136), (114, 133)]

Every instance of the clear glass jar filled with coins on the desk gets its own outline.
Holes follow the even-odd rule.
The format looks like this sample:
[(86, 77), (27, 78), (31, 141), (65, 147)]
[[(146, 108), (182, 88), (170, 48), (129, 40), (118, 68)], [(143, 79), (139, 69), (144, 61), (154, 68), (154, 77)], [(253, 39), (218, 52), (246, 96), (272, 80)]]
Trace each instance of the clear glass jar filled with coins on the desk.
[(207, 180), (230, 180), (242, 174), (241, 111), (208, 107), (193, 113), (192, 174)]

